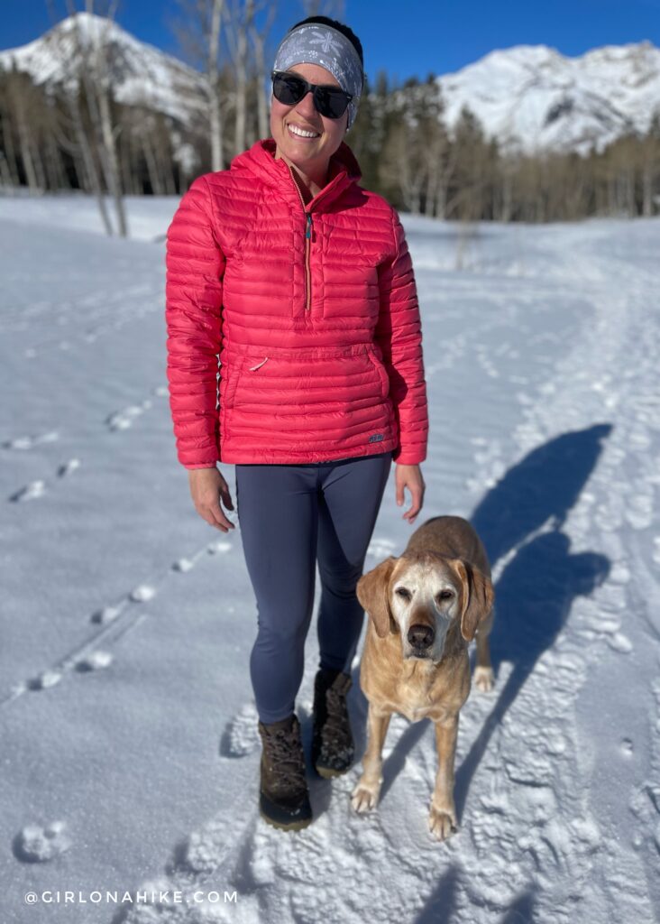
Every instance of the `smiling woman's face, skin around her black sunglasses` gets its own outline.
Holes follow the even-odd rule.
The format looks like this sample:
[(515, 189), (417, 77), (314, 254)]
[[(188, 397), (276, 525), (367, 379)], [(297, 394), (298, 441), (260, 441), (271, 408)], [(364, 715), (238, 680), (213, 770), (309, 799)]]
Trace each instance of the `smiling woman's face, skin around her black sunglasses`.
[[(295, 64), (288, 68), (309, 83), (339, 87), (339, 82), (329, 70), (318, 64)], [(287, 106), (272, 97), (270, 105), (270, 132), (277, 143), (276, 157), (283, 157), (289, 164), (299, 167), (305, 173), (325, 174), (330, 157), (339, 148), (348, 125), (348, 110), (341, 118), (321, 116), (315, 106), (312, 93), (306, 93), (300, 103)], [(302, 138), (292, 128), (314, 132), (313, 138)]]

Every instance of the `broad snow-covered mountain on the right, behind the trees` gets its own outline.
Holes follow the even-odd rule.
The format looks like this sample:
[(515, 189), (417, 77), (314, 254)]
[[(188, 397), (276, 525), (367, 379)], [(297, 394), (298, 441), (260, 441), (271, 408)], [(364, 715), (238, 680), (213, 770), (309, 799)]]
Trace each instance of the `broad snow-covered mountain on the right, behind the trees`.
[(648, 129), (660, 109), (660, 49), (609, 45), (570, 58), (546, 45), (519, 45), (438, 82), (450, 125), (468, 105), (502, 142), (528, 152), (587, 152)]

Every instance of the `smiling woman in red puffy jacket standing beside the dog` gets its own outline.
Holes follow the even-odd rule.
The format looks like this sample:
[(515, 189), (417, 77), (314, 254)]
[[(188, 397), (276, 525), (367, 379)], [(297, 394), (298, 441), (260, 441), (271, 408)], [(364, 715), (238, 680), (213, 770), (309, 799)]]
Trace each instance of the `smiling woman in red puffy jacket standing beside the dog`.
[[(360, 188), (343, 142), (362, 46), (326, 17), (278, 49), (272, 138), (200, 176), (168, 231), (168, 379), (179, 461), (198, 513), (236, 505), (258, 605), (250, 675), (262, 741), (259, 805), (312, 820), (294, 699), (321, 578), (312, 761), (346, 772), (346, 709), (364, 613), (355, 596), (392, 460), (413, 523), (423, 501), (426, 383), (412, 263), (390, 205)], [(221, 371), (218, 382), (218, 354)], [(219, 385), (219, 389), (218, 389)], [(217, 408), (217, 409), (216, 409)], [(222, 501), (222, 505), (221, 502)]]

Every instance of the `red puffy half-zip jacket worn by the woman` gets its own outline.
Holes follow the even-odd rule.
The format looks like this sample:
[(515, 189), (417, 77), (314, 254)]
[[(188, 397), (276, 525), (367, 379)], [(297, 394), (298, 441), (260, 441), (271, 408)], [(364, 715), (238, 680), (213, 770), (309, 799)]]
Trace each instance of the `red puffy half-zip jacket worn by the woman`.
[(179, 461), (300, 464), (393, 450), (396, 462), (422, 462), (422, 334), (398, 215), (357, 185), (346, 144), (307, 204), (274, 152), (261, 140), (229, 170), (199, 176), (167, 232)]

